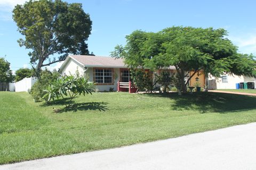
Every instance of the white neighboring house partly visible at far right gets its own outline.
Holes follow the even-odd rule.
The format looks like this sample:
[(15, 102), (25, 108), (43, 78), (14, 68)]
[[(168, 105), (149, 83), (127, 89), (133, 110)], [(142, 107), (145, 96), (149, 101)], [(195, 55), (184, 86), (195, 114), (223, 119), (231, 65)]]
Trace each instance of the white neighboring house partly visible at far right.
[(256, 79), (253, 77), (244, 77), (234, 74), (223, 74), (220, 78), (215, 78), (209, 74), (209, 89), (236, 89), (236, 84), (241, 82), (249, 82), (249, 88), (256, 88)]

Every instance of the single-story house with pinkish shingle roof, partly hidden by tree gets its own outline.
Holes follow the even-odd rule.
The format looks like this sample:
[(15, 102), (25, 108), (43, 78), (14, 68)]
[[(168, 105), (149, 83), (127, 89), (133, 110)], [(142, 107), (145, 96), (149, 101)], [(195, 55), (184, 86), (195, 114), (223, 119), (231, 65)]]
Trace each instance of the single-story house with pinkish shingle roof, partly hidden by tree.
[[(171, 66), (164, 69), (171, 74), (175, 72), (175, 67)], [(118, 81), (129, 82), (130, 71), (123, 59), (102, 57), (102, 56), (89, 56), (89, 55), (68, 55), (66, 60), (62, 63), (59, 72), (62, 76), (76, 74), (89, 77), (90, 81), (96, 83), (96, 88), (99, 91), (109, 91), (110, 88), (117, 90)], [(155, 71), (157, 74), (161, 70)], [(154, 75), (153, 75), (154, 79)]]

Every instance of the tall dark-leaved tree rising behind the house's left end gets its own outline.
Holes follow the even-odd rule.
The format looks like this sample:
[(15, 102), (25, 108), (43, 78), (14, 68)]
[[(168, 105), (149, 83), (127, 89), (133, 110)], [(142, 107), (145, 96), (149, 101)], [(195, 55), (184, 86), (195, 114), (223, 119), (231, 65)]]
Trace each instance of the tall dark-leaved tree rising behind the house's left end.
[(82, 4), (30, 0), (14, 7), (13, 20), (25, 36), (18, 40), (19, 45), (32, 50), (28, 55), (37, 75), (41, 67), (65, 60), (68, 53), (90, 55), (85, 41), (91, 34), (92, 21)]

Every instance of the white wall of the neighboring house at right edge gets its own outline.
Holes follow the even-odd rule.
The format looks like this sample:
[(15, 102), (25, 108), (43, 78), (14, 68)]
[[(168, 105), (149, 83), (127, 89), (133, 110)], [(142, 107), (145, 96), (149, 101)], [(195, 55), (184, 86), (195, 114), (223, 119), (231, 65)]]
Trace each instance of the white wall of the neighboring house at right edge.
[[(255, 86), (255, 78), (243, 77), (243, 76), (232, 75), (232, 74), (223, 74), (223, 75), (228, 76), (227, 77), (228, 82), (222, 82), (221, 78), (215, 78), (212, 75), (210, 75), (209, 89), (236, 89), (236, 83), (241, 83), (241, 82), (254, 82), (254, 86)], [(215, 80), (215, 81), (212, 81), (212, 80)], [(215, 85), (211, 84), (211, 82), (214, 82)]]

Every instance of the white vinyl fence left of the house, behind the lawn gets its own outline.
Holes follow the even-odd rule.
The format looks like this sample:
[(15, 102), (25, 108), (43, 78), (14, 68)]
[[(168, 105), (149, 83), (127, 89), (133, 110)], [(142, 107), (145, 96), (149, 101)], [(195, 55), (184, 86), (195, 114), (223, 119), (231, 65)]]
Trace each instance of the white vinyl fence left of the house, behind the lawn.
[(35, 84), (37, 81), (37, 78), (24, 78), (18, 82), (14, 83), (14, 87), (12, 84), (9, 84), (9, 88), (11, 91), (11, 86), (12, 90), (14, 88), (14, 91), (19, 92), (19, 91), (28, 91), (28, 89), (31, 89), (31, 87)]

